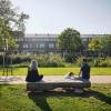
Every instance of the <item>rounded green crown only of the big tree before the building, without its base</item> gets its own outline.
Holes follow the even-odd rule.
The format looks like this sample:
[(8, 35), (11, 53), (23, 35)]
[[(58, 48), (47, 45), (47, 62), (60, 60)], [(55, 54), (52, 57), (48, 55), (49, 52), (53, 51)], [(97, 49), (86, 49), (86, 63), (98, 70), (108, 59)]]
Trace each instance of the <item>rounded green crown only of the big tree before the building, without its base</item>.
[(83, 48), (80, 33), (71, 28), (65, 29), (58, 37), (58, 48), (61, 51), (78, 51)]

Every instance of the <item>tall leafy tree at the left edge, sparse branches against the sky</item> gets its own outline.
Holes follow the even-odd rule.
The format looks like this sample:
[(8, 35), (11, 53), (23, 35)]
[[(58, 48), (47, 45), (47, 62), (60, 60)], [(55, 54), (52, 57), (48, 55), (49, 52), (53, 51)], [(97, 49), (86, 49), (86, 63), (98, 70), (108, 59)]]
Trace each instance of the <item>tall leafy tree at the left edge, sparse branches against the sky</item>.
[(24, 32), (24, 22), (29, 16), (13, 8), (10, 0), (0, 0), (0, 44), (3, 47), (9, 41), (14, 47), (14, 31)]

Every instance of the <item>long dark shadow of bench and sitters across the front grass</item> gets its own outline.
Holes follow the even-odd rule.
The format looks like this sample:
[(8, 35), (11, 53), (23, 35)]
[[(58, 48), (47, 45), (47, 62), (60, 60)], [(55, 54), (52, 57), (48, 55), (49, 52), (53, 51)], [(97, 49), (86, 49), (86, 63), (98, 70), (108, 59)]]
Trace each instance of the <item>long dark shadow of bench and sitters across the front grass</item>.
[(75, 97), (90, 98), (90, 97), (93, 97), (93, 98), (111, 105), (111, 97), (109, 97), (109, 95), (107, 95), (102, 92), (91, 90), (91, 89), (84, 90), (84, 92), (82, 94), (77, 94), (72, 90), (67, 90), (67, 91), (29, 92), (28, 97), (29, 97), (29, 99), (33, 100), (36, 105), (38, 105), (43, 111), (52, 111), (48, 101), (47, 101), (47, 98), (51, 98), (51, 97), (57, 97), (58, 99), (61, 98), (61, 97), (71, 97), (71, 98), (75, 98)]

